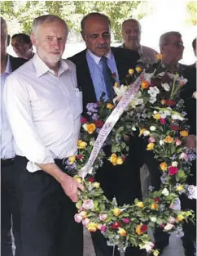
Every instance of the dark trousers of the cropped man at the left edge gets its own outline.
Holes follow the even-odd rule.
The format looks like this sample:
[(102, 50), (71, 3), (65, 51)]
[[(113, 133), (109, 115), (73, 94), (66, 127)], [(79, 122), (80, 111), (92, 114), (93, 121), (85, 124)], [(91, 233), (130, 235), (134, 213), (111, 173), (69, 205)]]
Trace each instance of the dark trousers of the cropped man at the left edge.
[(15, 238), (15, 256), (22, 255), (20, 208), (15, 193), (15, 165), (1, 164), (1, 255), (12, 256), (11, 227)]

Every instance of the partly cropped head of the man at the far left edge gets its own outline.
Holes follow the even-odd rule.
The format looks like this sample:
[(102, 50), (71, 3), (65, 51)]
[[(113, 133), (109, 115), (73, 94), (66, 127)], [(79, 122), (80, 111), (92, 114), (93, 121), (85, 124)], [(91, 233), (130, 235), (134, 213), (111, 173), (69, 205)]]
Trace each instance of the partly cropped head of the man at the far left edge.
[(7, 58), (9, 41), (10, 36), (7, 34), (7, 22), (1, 17), (1, 61), (5, 61)]

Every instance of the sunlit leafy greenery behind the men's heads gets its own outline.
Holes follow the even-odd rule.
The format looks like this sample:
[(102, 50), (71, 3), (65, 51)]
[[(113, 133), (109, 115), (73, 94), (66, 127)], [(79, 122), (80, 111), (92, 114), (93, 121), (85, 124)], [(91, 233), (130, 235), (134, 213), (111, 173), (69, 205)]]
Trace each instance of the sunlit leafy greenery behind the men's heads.
[[(72, 33), (80, 33), (80, 22), (83, 16), (99, 11), (110, 17), (112, 21), (112, 41), (120, 41), (120, 25), (133, 15), (140, 1), (2, 1), (0, 3), (2, 17), (7, 20), (10, 34), (31, 33), (33, 19), (44, 14), (55, 14), (68, 22)], [(142, 18), (142, 15), (141, 15)], [(13, 23), (19, 23), (16, 31)], [(17, 28), (17, 27), (16, 27)], [(80, 37), (82, 40), (82, 38)]]

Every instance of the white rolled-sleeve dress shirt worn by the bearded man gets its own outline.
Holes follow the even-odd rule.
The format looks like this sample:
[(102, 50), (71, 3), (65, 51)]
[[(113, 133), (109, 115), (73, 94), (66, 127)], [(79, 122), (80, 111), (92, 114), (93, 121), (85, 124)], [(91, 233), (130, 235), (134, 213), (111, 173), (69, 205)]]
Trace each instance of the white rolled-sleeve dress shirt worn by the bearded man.
[(15, 154), (37, 164), (74, 155), (81, 127), (82, 95), (72, 61), (59, 63), (59, 75), (35, 54), (5, 84), (4, 101), (14, 136)]

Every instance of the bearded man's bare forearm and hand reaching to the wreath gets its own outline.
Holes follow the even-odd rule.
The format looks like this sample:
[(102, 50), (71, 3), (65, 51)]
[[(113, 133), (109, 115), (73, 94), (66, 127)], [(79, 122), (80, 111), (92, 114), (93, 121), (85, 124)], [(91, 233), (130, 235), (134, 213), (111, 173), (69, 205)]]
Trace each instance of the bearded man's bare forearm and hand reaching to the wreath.
[(63, 171), (56, 164), (38, 164), (42, 170), (55, 178), (63, 188), (63, 191), (66, 195), (76, 203), (78, 200), (77, 192), (78, 188), (81, 191), (84, 191), (85, 187), (77, 182), (73, 177), (70, 177), (68, 174), (63, 173)]

